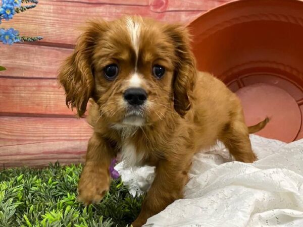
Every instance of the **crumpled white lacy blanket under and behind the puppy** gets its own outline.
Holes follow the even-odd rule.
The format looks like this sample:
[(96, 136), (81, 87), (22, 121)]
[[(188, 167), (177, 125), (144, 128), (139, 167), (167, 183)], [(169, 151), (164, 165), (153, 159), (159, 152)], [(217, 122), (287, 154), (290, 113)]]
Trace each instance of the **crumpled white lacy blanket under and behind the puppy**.
[[(259, 160), (232, 161), (218, 144), (194, 156), (184, 199), (150, 217), (144, 226), (303, 227), (303, 139), (289, 144), (250, 136)], [(153, 182), (154, 168), (116, 166), (135, 194)]]

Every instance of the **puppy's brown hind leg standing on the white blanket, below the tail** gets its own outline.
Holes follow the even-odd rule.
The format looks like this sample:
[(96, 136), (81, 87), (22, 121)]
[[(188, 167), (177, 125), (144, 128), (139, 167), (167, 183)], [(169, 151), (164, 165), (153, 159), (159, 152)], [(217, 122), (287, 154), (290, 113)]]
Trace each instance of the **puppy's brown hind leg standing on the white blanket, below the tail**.
[(257, 157), (251, 149), (248, 129), (241, 121), (227, 125), (222, 133), (221, 141), (236, 161), (254, 162)]

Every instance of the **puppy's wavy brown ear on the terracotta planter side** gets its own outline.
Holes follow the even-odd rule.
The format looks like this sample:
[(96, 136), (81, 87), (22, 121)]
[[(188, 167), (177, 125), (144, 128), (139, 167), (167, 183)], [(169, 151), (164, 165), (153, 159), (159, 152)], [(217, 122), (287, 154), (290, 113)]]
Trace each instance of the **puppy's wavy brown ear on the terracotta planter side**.
[(175, 46), (174, 108), (183, 117), (191, 107), (196, 82), (195, 58), (190, 49), (190, 35), (182, 25), (167, 25), (166, 33)]

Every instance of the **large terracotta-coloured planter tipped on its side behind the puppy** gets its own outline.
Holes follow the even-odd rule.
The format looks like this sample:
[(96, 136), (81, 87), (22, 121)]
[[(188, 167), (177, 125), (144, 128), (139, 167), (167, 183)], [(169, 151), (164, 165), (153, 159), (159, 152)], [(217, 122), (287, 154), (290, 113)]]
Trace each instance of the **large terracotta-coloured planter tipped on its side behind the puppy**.
[(248, 125), (269, 116), (259, 135), (303, 138), (303, 2), (235, 1), (188, 27), (199, 70), (239, 95)]

